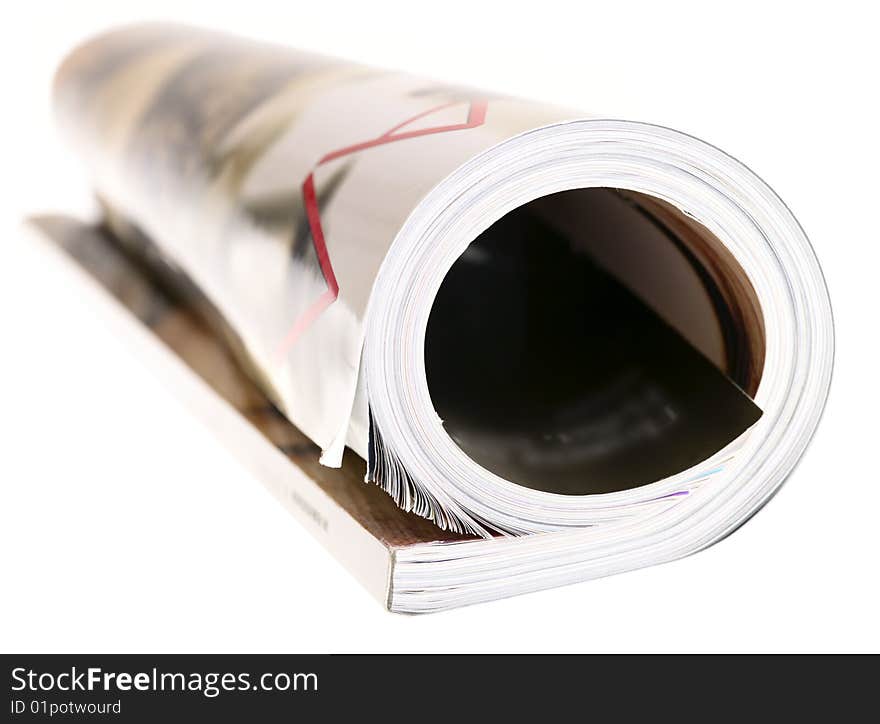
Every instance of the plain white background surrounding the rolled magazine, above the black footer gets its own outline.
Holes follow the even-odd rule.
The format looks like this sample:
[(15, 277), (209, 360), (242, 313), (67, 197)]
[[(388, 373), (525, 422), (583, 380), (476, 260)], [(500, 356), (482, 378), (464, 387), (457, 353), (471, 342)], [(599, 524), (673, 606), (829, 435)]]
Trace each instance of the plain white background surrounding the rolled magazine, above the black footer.
[[(766, 0), (7, 8), (0, 649), (880, 650), (880, 54), (868, 8)], [(27, 213), (91, 208), (49, 114), (64, 51), (103, 27), (155, 18), (652, 121), (748, 163), (810, 236), (838, 334), (823, 423), (781, 493), (734, 536), (686, 560), (444, 614), (385, 613), (16, 230)]]

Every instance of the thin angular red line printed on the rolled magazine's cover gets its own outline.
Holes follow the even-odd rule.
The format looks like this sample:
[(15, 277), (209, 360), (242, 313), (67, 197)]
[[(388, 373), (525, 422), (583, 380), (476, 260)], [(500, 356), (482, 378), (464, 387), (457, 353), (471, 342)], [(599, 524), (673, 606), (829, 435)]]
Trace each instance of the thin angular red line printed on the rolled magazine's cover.
[(330, 153), (323, 156), (318, 161), (318, 163), (315, 164), (312, 171), (306, 177), (306, 180), (303, 181), (302, 194), (303, 203), (306, 209), (306, 217), (309, 222), (309, 230), (312, 232), (312, 240), (315, 244), (315, 252), (318, 255), (318, 263), (321, 266), (321, 274), (324, 276), (324, 281), (327, 283), (327, 290), (323, 294), (321, 294), (321, 296), (318, 297), (311, 304), (311, 306), (309, 306), (309, 308), (306, 309), (305, 312), (303, 312), (303, 314), (299, 316), (296, 322), (294, 322), (293, 327), (291, 327), (290, 331), (287, 333), (287, 335), (278, 347), (277, 354), (279, 357), (286, 354), (288, 350), (290, 350), (290, 348), (299, 339), (300, 335), (302, 335), (302, 333), (311, 326), (312, 322), (314, 322), (319, 316), (321, 316), (321, 313), (325, 309), (327, 309), (327, 307), (333, 304), (333, 302), (335, 302), (337, 297), (339, 296), (339, 284), (336, 281), (336, 274), (333, 272), (333, 265), (330, 263), (330, 254), (327, 251), (327, 242), (324, 238), (324, 229), (321, 226), (321, 212), (318, 208), (318, 197), (315, 193), (315, 170), (317, 170), (317, 168), (322, 164), (329, 163), (330, 161), (334, 161), (337, 158), (342, 158), (343, 156), (348, 156), (352, 153), (357, 153), (358, 151), (363, 151), (367, 148), (374, 148), (376, 146), (382, 146), (386, 143), (393, 143), (395, 141), (404, 141), (408, 138), (428, 136), (434, 133), (464, 131), (468, 128), (476, 128), (477, 126), (481, 126), (485, 122), (486, 109), (488, 108), (489, 102), (483, 99), (471, 101), (470, 107), (468, 108), (467, 120), (465, 120), (464, 123), (454, 123), (446, 126), (433, 126), (431, 128), (420, 128), (415, 131), (401, 131), (401, 129), (406, 128), (406, 126), (415, 123), (416, 121), (426, 116), (437, 113), (438, 111), (444, 110), (454, 105), (456, 105), (456, 102), (443, 103), (442, 105), (434, 106), (433, 108), (429, 108), (427, 111), (417, 113), (411, 118), (407, 118), (405, 121), (398, 123), (396, 126), (386, 131), (381, 136), (372, 138), (369, 141), (363, 141), (361, 143), (355, 143), (351, 146), (345, 146), (343, 148), (337, 149), (336, 151), (331, 151)]

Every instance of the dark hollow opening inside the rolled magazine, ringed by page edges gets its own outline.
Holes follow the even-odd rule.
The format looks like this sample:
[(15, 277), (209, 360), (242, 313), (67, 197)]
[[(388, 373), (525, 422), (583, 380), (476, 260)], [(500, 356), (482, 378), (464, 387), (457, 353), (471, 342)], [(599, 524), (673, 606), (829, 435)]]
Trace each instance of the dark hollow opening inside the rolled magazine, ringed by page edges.
[(761, 415), (760, 305), (706, 228), (616, 189), (565, 191), (481, 234), (440, 287), (428, 387), (507, 480), (587, 495), (705, 460)]

